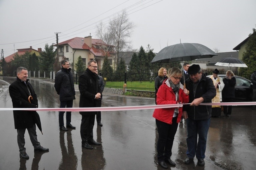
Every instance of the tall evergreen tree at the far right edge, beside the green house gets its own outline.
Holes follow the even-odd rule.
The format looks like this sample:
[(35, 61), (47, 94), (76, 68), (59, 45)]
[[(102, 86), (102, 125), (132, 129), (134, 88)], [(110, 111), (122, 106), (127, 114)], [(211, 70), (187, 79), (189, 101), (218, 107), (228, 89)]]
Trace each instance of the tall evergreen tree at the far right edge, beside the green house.
[(256, 29), (253, 28), (252, 31), (253, 33), (249, 34), (249, 38), (245, 46), (245, 52), (243, 53), (242, 57), (243, 62), (248, 67), (240, 68), (240, 71), (242, 71), (242, 73), (250, 75), (255, 71), (256, 65)]

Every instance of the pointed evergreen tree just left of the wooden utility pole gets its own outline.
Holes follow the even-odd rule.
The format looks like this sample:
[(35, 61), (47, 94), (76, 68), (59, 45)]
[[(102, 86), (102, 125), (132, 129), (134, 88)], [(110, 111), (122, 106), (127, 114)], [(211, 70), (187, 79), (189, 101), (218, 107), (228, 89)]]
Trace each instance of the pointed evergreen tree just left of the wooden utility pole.
[[(56, 51), (53, 45), (45, 44), (44, 50), (39, 54), (39, 68), (41, 71), (53, 71), (53, 64), (56, 62)], [(57, 62), (58, 63), (58, 62)], [(60, 67), (58, 68), (58, 70)], [(58, 71), (55, 70), (55, 71)]]

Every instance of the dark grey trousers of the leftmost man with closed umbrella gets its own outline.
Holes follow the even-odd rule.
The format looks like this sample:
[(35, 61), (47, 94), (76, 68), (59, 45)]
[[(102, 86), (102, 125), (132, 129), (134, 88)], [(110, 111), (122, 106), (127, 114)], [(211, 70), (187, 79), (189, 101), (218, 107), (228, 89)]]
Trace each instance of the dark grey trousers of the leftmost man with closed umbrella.
[[(26, 128), (28, 129), (29, 132), (29, 138), (31, 143), (33, 144), (34, 148), (37, 148), (40, 146), (40, 142), (37, 141), (37, 135), (36, 135), (36, 129), (35, 129), (35, 124), (33, 125), (32, 128)], [(20, 152), (25, 152), (26, 147), (25, 146), (25, 138), (24, 134), (26, 132), (26, 129), (17, 129), (17, 141), (18, 141), (18, 146), (20, 149)]]

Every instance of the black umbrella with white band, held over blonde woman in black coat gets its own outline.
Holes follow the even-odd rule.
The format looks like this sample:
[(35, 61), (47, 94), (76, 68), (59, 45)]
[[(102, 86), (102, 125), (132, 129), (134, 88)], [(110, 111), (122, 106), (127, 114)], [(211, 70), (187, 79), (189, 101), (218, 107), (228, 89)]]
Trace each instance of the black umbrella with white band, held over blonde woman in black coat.
[(242, 60), (232, 57), (224, 58), (221, 61), (217, 62), (215, 65), (225, 67), (247, 67), (247, 65)]

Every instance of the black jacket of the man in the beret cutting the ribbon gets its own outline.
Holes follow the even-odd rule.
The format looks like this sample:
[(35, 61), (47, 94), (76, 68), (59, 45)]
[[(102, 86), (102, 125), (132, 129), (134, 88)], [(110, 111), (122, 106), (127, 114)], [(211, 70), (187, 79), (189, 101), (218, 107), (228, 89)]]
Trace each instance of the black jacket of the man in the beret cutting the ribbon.
[[(194, 83), (190, 78), (188, 78), (185, 83), (187, 90), (189, 90), (189, 103), (200, 97), (203, 97), (203, 103), (212, 103), (212, 98), (216, 96), (216, 89), (213, 85), (213, 81), (209, 77), (206, 77), (205, 74), (202, 74), (202, 79), (197, 84), (195, 92)], [(188, 117), (193, 120), (206, 120), (212, 116), (211, 105), (184, 105), (183, 111), (187, 111)]]

